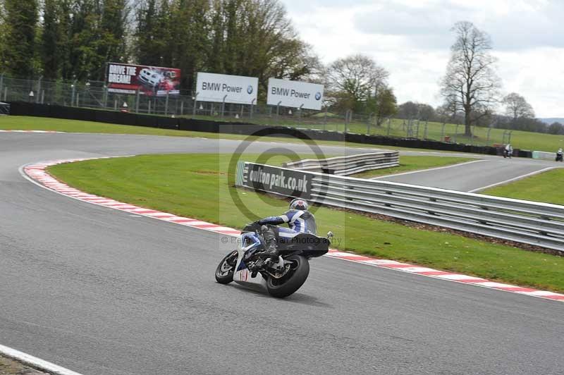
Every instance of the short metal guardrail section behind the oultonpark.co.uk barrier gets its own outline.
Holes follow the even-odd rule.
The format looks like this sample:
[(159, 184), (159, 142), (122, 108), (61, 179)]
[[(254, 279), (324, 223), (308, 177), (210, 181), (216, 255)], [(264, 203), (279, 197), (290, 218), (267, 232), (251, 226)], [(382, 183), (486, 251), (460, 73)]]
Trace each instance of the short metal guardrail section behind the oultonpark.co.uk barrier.
[(400, 153), (389, 150), (370, 152), (368, 154), (336, 156), (328, 159), (303, 159), (283, 164), (286, 168), (329, 173), (338, 176), (349, 176), (354, 173), (399, 165)]

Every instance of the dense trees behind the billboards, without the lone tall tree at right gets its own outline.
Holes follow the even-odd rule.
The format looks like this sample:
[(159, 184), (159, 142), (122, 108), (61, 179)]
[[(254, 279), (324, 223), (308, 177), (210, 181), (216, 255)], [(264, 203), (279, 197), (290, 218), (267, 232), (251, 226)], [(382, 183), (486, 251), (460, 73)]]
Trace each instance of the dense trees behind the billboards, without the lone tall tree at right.
[(0, 0), (0, 73), (16, 78), (104, 80), (106, 62), (326, 85), (336, 111), (391, 116), (388, 71), (367, 56), (325, 66), (278, 0)]

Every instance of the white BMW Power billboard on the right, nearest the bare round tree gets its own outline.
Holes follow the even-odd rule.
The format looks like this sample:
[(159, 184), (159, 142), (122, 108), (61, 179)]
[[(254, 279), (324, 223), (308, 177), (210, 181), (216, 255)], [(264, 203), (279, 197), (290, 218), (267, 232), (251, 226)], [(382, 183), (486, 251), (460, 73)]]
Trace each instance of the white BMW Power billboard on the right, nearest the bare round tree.
[(321, 109), (324, 86), (317, 83), (278, 80), (269, 78), (269, 94), (266, 104), (291, 106), (294, 108)]

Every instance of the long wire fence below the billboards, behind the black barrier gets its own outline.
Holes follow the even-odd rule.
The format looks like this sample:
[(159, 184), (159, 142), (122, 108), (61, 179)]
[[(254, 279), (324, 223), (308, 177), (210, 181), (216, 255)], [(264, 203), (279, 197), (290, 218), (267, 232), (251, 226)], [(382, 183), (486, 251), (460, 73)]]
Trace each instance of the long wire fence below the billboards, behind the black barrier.
[(109, 92), (104, 82), (99, 81), (21, 80), (0, 75), (1, 101), (57, 104), (215, 121), (245, 121), (262, 125), (441, 140), (479, 146), (504, 145), (511, 139), (510, 130), (473, 127), (471, 135), (466, 135), (465, 126), (460, 124), (417, 118), (381, 118), (374, 113), (354, 113), (351, 110), (340, 113), (331, 108), (312, 111), (266, 104), (200, 102), (197, 96), (192, 95), (156, 97), (141, 92), (116, 94)]

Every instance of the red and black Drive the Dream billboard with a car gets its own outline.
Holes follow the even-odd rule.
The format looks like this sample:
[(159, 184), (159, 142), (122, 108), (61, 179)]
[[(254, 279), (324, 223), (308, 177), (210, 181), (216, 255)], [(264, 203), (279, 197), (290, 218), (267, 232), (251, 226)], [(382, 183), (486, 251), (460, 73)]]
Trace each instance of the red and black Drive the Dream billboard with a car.
[(180, 69), (108, 63), (108, 92), (164, 96), (180, 94)]

